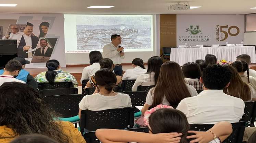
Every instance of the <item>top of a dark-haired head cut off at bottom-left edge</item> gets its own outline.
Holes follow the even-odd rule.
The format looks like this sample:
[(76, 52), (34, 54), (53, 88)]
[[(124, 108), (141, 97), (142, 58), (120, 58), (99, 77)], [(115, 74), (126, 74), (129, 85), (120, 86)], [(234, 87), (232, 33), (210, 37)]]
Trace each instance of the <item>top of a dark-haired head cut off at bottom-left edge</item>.
[(27, 134), (22, 135), (11, 141), (10, 143), (58, 143), (56, 140), (53, 140), (42, 134)]

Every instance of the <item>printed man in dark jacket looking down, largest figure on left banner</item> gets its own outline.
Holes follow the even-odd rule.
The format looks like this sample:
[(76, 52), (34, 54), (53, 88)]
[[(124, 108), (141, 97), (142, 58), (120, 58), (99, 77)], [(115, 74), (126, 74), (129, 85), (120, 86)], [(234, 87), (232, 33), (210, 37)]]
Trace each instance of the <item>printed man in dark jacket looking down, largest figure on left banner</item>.
[(18, 56), (24, 58), (32, 58), (33, 52), (28, 52), (34, 48), (36, 48), (38, 37), (35, 36), (33, 32), (34, 25), (32, 23), (27, 22), (27, 25), (23, 31), (21, 41), (18, 46)]

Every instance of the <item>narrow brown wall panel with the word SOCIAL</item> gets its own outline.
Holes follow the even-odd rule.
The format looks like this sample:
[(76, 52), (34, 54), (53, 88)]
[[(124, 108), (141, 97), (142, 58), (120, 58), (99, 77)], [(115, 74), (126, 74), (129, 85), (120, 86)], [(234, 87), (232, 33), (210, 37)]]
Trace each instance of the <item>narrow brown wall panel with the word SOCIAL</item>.
[(160, 55), (170, 46), (176, 46), (176, 14), (160, 14)]

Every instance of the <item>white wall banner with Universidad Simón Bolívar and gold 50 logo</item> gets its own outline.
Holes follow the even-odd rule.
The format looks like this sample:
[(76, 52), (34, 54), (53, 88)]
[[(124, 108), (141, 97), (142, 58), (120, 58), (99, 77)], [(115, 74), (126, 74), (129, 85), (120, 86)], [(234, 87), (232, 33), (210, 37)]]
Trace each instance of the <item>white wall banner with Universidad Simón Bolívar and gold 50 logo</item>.
[(240, 44), (244, 15), (177, 15), (177, 45)]

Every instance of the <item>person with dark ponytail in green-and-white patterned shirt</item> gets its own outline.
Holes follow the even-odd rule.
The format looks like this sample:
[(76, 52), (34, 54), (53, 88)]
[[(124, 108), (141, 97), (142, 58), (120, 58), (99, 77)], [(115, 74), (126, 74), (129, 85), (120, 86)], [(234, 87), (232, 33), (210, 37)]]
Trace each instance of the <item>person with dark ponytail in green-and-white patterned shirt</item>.
[(35, 80), (38, 83), (49, 82), (53, 84), (54, 82), (72, 82), (74, 88), (77, 87), (77, 81), (73, 75), (68, 72), (64, 72), (60, 69), (60, 63), (57, 60), (49, 60), (46, 63), (47, 71), (39, 73)]

